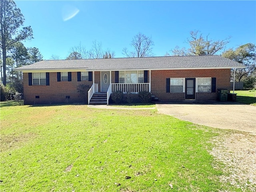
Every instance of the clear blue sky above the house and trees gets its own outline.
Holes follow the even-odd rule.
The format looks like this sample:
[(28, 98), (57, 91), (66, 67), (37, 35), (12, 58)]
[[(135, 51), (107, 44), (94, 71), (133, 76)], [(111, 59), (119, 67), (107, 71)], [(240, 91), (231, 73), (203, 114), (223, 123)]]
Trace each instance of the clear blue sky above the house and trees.
[[(151, 36), (155, 56), (185, 43), (191, 30), (218, 40), (231, 36), (227, 48), (256, 43), (256, 1), (19, 1), (24, 26), (34, 39), (26, 47), (39, 48), (43, 59), (65, 59), (72, 46), (90, 49), (92, 41), (124, 57), (122, 49), (138, 32)], [(78, 12), (79, 10), (79, 12)], [(73, 18), (64, 21), (72, 13)]]

